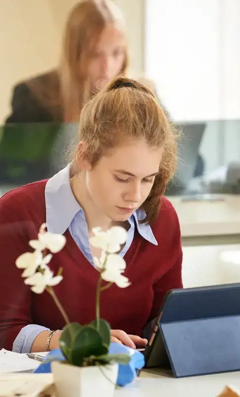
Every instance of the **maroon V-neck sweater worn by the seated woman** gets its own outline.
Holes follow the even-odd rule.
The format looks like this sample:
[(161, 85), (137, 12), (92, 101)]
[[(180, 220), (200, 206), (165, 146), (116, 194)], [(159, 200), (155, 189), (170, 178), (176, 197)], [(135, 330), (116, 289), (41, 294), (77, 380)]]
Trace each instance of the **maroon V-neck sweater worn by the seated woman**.
[[(38, 238), (39, 228), (46, 221), (46, 183), (14, 189), (0, 199), (0, 348), (11, 350), (17, 334), (28, 324), (51, 330), (64, 326), (48, 292), (31, 292), (21, 277), (22, 269), (15, 265), (19, 255), (31, 251), (28, 242)], [(124, 274), (131, 285), (118, 288), (114, 284), (101, 294), (100, 315), (112, 329), (141, 335), (147, 322), (157, 316), (166, 291), (182, 287), (179, 221), (167, 199), (162, 199), (159, 216), (151, 228), (158, 246), (142, 238), (135, 228), (133, 242), (124, 257)], [(63, 268), (63, 280), (54, 290), (70, 321), (88, 324), (95, 318), (99, 273), (68, 230), (65, 237), (64, 249), (54, 254), (49, 264), (54, 275), (59, 267)]]

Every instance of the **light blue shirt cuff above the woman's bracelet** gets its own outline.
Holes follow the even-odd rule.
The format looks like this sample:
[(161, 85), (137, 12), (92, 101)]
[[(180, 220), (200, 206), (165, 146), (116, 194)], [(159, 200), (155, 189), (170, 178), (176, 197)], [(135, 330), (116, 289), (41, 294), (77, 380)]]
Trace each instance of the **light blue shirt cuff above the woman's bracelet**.
[(50, 331), (50, 329), (36, 324), (23, 327), (13, 342), (12, 351), (15, 353), (30, 353), (35, 338), (43, 331)]

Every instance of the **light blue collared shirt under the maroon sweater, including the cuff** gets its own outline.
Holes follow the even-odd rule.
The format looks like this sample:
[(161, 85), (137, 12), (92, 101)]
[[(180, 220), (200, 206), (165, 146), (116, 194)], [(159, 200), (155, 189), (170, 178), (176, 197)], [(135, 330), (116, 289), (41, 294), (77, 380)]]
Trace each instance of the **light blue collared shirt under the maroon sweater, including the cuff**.
[[(69, 172), (70, 164), (50, 178), (46, 184), (45, 201), (48, 232), (63, 234), (68, 229), (79, 249), (90, 264), (94, 266), (89, 243), (88, 225), (83, 209), (73, 196)], [(140, 223), (144, 218), (145, 212), (137, 210), (128, 219), (130, 228), (127, 234), (127, 241), (119, 253), (122, 257), (124, 257), (132, 244), (135, 227), (137, 227), (139, 234), (145, 240), (157, 245), (151, 227)], [(49, 329), (36, 324), (22, 328), (14, 340), (12, 350), (17, 353), (29, 353), (34, 339), (42, 331), (49, 331)]]

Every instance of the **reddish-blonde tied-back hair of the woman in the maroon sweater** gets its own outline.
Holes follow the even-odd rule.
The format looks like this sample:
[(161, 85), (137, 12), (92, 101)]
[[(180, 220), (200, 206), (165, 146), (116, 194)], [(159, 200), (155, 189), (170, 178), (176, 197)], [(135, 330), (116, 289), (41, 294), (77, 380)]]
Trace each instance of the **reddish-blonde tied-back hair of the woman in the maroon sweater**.
[(78, 156), (85, 156), (94, 166), (108, 150), (127, 139), (144, 138), (151, 146), (163, 147), (159, 174), (142, 209), (144, 223), (152, 223), (158, 214), (161, 196), (172, 178), (177, 154), (178, 133), (169, 123), (156, 96), (144, 84), (126, 77), (116, 77), (82, 109), (78, 140), (85, 151), (74, 151), (72, 172), (78, 172)]

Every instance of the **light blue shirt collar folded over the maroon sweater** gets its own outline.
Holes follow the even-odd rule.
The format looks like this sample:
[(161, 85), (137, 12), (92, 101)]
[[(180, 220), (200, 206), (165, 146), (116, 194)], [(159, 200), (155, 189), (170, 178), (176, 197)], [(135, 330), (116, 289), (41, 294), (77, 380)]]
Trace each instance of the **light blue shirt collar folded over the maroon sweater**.
[[(63, 234), (70, 226), (73, 218), (79, 211), (83, 211), (70, 186), (70, 164), (50, 178), (45, 187), (46, 224), (48, 232)], [(140, 223), (146, 214), (143, 210), (137, 210), (129, 218), (130, 225), (135, 223), (139, 234), (150, 243), (157, 245), (151, 227)]]

